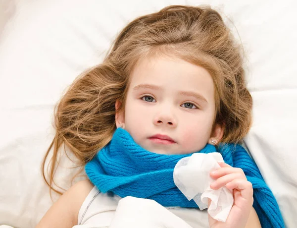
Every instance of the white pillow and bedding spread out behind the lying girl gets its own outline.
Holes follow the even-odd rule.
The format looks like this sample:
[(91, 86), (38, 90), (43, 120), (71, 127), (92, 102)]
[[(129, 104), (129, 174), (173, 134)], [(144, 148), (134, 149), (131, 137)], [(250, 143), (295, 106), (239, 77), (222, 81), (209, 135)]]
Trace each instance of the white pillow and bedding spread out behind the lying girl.
[[(0, 224), (35, 227), (51, 206), (40, 165), (54, 135), (53, 106), (74, 78), (98, 64), (116, 34), (136, 16), (170, 4), (200, 3), (216, 6), (239, 30), (254, 99), (254, 123), (246, 144), (278, 200), (287, 227), (295, 227), (293, 0), (275, 6), (268, 0), (257, 4), (250, 0), (11, 1), (12, 13), (5, 17), (0, 33)], [(76, 170), (67, 169), (73, 163), (65, 156), (62, 165), (57, 183), (68, 188)]]

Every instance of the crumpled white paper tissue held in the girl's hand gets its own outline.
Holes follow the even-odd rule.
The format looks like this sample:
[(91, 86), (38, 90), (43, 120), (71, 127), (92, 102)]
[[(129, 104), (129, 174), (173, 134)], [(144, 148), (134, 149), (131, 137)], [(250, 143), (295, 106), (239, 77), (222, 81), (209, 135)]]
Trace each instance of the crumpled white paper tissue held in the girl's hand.
[(193, 154), (176, 164), (173, 180), (188, 200), (196, 202), (200, 210), (207, 208), (208, 198), (211, 199), (208, 214), (217, 221), (226, 222), (233, 205), (233, 195), (225, 186), (218, 190), (210, 188), (214, 179), (209, 173), (220, 168), (218, 162), (224, 162), (220, 153)]

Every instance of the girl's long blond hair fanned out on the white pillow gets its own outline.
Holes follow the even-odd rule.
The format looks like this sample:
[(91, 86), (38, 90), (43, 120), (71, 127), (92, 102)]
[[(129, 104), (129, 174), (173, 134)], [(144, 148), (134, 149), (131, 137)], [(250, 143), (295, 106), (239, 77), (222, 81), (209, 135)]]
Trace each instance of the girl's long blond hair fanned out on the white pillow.
[[(136, 18), (118, 35), (103, 62), (80, 75), (55, 109), (56, 133), (42, 164), (51, 189), (58, 152), (67, 146), (84, 166), (112, 138), (115, 101), (125, 107), (129, 75), (139, 59), (174, 56), (200, 65), (215, 85), (215, 123), (224, 126), (221, 142), (239, 143), (251, 124), (252, 99), (246, 88), (240, 45), (220, 14), (209, 6), (172, 5)], [(49, 180), (45, 164), (49, 151)]]

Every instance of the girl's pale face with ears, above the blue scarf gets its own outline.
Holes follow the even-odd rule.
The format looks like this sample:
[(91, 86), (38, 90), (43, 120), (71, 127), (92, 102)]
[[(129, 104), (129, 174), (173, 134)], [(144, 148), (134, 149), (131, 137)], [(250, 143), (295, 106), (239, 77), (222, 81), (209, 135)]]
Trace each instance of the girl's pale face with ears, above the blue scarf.
[(141, 147), (158, 154), (187, 154), (221, 139), (220, 126), (212, 131), (214, 84), (205, 68), (157, 57), (141, 60), (130, 76), (125, 112), (116, 114), (116, 124)]

